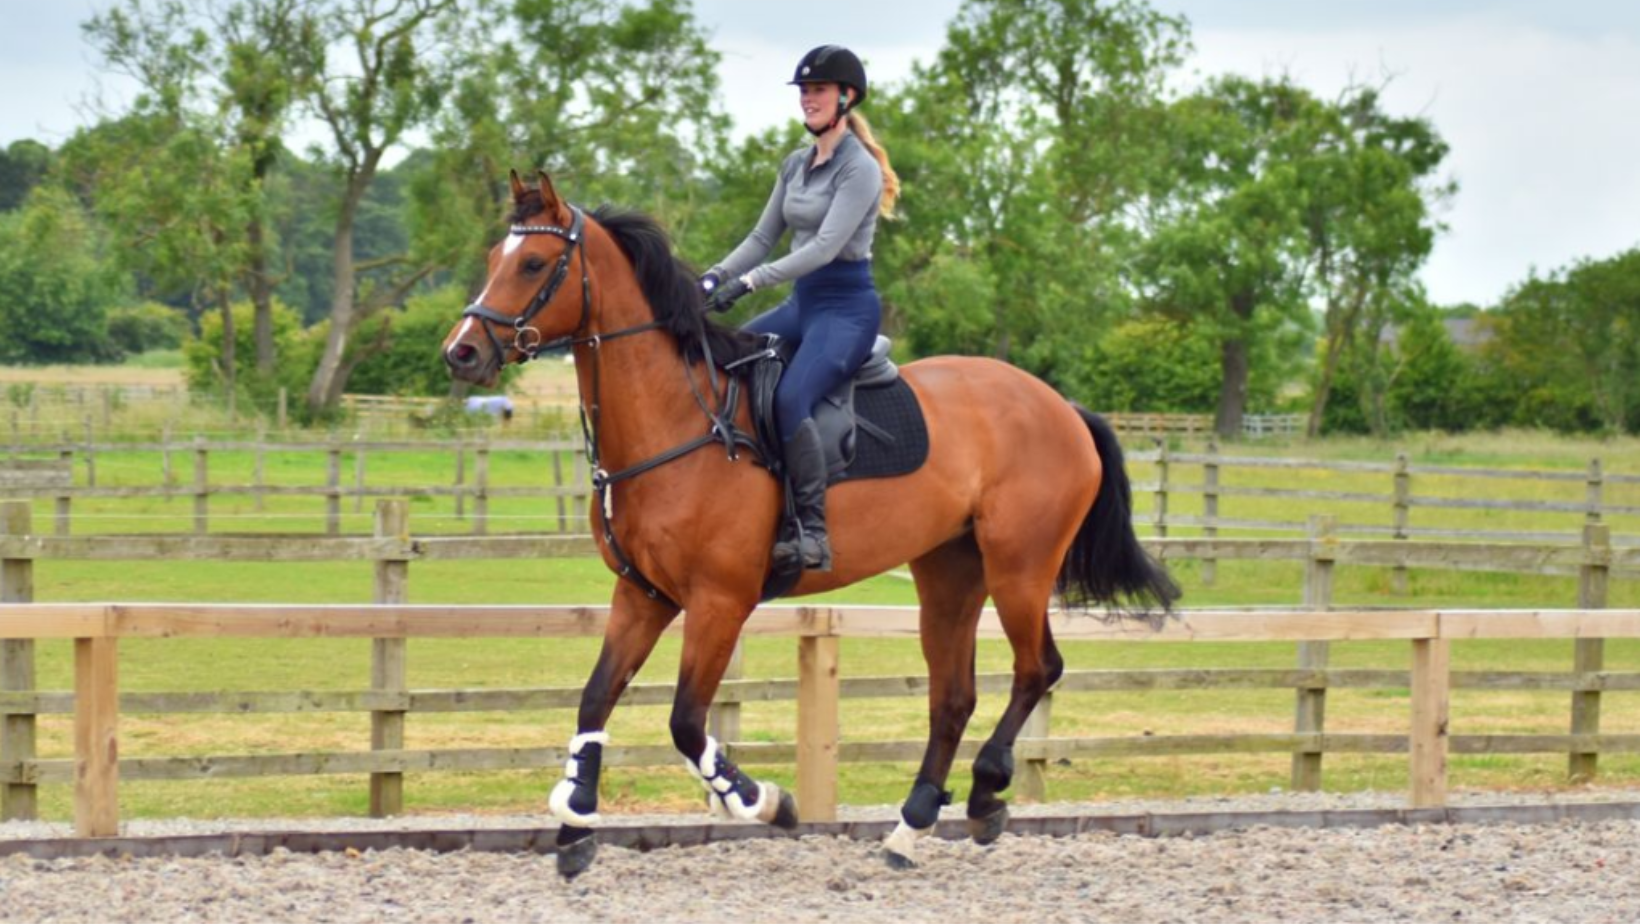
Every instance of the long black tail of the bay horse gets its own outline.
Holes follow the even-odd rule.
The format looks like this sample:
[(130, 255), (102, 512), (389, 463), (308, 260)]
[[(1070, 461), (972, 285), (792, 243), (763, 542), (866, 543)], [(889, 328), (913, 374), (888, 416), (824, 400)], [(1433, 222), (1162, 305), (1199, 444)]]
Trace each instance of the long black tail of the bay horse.
[[(1074, 405), (1094, 435), (1105, 476), (1099, 496), (1076, 530), (1055, 589), (1068, 607), (1102, 604), (1122, 615), (1155, 617), (1173, 612), (1179, 586), (1133, 535), (1133, 489), (1122, 461), (1122, 445), (1104, 417)], [(1161, 611), (1156, 614), (1155, 611)]]

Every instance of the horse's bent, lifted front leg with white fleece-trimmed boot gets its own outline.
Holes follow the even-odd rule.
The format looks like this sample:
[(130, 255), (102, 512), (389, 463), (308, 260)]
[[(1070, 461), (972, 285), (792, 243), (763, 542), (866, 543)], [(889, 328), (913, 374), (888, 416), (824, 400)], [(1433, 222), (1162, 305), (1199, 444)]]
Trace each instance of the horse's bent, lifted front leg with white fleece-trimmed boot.
[(684, 656), (672, 701), (672, 743), (707, 788), (713, 814), (797, 827), (797, 803), (774, 783), (759, 783), (735, 766), (707, 734), (707, 711), (735, 653), (735, 640), (751, 612), (749, 604), (690, 601), (684, 624)]

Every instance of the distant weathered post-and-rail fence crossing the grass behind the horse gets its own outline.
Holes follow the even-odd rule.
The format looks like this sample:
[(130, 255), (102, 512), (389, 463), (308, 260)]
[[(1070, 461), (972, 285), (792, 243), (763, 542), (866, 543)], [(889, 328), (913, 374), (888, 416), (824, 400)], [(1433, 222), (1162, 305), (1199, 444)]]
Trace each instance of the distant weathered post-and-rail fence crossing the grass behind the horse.
[[(546, 478), (526, 484), (499, 484), (490, 478), (490, 456), (499, 451), (526, 451), (541, 455), (551, 466)], [(151, 453), (159, 464), (154, 484), (110, 487), (98, 481), (98, 458), (110, 453)], [(223, 483), (213, 474), (212, 456), (223, 453), (249, 453), (254, 456), (254, 473), (248, 483)], [(276, 453), (315, 453), (325, 460), (321, 483), (269, 484), (264, 476), (266, 458)], [(451, 479), (444, 484), (405, 486), (371, 484), (369, 460), (392, 453), (449, 453)], [(28, 458), (26, 458), (28, 456)], [(44, 456), (41, 460), (39, 456)], [(0, 484), (5, 471), (18, 464), (51, 461), (74, 469), (74, 484), (33, 486), (7, 489), (13, 497), (52, 497), (56, 502), (56, 535), (72, 530), (74, 504), (95, 499), (192, 499), (192, 532), (205, 535), (212, 530), (210, 505), (213, 497), (253, 497), (261, 509), (266, 497), (312, 497), (323, 501), (323, 524), (328, 535), (341, 532), (344, 504), (362, 510), (366, 499), (392, 496), (451, 497), (456, 515), (467, 517), (471, 530), (485, 535), (492, 528), (492, 499), (549, 499), (556, 512), (556, 528), (567, 532), (584, 528), (589, 474), (579, 441), (540, 440), (479, 440), (435, 443), (425, 440), (384, 441), (353, 440), (326, 443), (269, 441), (269, 440), (161, 440), (154, 443), (92, 443), (64, 441), (15, 450), (11, 463), (0, 461)], [(1310, 510), (1330, 509), (1337, 517), (1340, 533), (1386, 538), (1458, 538), (1486, 542), (1566, 542), (1576, 540), (1581, 527), (1609, 524), (1629, 517), (1640, 527), (1640, 476), (1607, 473), (1599, 460), (1591, 460), (1584, 471), (1533, 471), (1489, 469), (1440, 464), (1414, 464), (1405, 455), (1394, 461), (1315, 461), (1274, 456), (1223, 455), (1214, 443), (1207, 451), (1182, 453), (1164, 441), (1151, 450), (1128, 453), (1137, 478), (1137, 499), (1148, 499), (1148, 509), (1135, 514), (1140, 525), (1155, 537), (1166, 538), (1181, 532), (1215, 538), (1225, 533), (1281, 533), (1304, 532), (1304, 520), (1238, 515), (1237, 504), (1264, 501), (1301, 502)], [(1150, 466), (1143, 469), (1141, 466)], [(315, 466), (317, 468), (317, 466)], [(190, 469), (190, 471), (189, 471)], [(349, 471), (351, 469), (351, 471)], [(1356, 479), (1381, 479), (1378, 491), (1320, 491), (1268, 484), (1268, 474), (1291, 473), (1296, 478), (1320, 474), (1323, 478), (1351, 476)], [(1186, 476), (1191, 478), (1186, 478)], [(1463, 494), (1437, 492), (1425, 487), (1425, 479), (1440, 487), (1443, 481), (1463, 479)], [(21, 484), (21, 483), (20, 483)], [(1550, 487), (1555, 499), (1509, 497), (1522, 487)], [(1197, 501), (1199, 499), (1199, 501)], [(1184, 512), (1186, 505), (1191, 510)], [(1243, 507), (1245, 509), (1245, 507)], [(1543, 525), (1533, 528), (1460, 528), (1443, 522), (1453, 510), (1528, 514)], [(1558, 527), (1558, 528), (1556, 528)], [(1619, 530), (1617, 545), (1640, 543), (1640, 528)], [(1204, 579), (1212, 583), (1212, 560), (1204, 563)], [(1404, 584), (1404, 571), (1396, 583)]]

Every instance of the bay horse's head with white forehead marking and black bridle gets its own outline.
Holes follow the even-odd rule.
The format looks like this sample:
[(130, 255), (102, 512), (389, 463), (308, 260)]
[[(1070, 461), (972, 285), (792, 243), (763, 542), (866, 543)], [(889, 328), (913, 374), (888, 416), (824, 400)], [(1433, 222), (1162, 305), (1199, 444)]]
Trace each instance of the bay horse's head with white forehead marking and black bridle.
[(531, 189), (513, 171), (512, 194), (512, 228), (490, 249), (484, 290), (444, 336), (449, 374), (485, 387), (507, 363), (572, 338), (590, 310), (585, 215), (558, 197), (544, 172)]

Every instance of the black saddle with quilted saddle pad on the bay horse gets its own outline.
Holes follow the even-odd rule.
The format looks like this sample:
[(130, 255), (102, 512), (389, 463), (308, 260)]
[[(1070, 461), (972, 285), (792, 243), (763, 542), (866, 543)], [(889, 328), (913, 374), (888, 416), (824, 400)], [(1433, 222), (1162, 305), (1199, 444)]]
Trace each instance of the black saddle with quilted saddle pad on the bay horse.
[[(891, 341), (877, 336), (871, 356), (815, 407), (815, 425), (827, 458), (827, 484), (864, 478), (894, 478), (922, 468), (928, 460), (928, 423), (923, 420), (917, 394), (900, 379), (900, 369), (889, 359)], [(753, 435), (763, 464), (787, 486), (786, 512), (776, 538), (795, 535), (795, 510), (781, 435), (774, 423), (774, 389), (790, 363), (795, 345), (769, 336), (748, 374)], [(772, 571), (763, 584), (763, 599), (784, 596), (797, 584), (802, 569)]]

